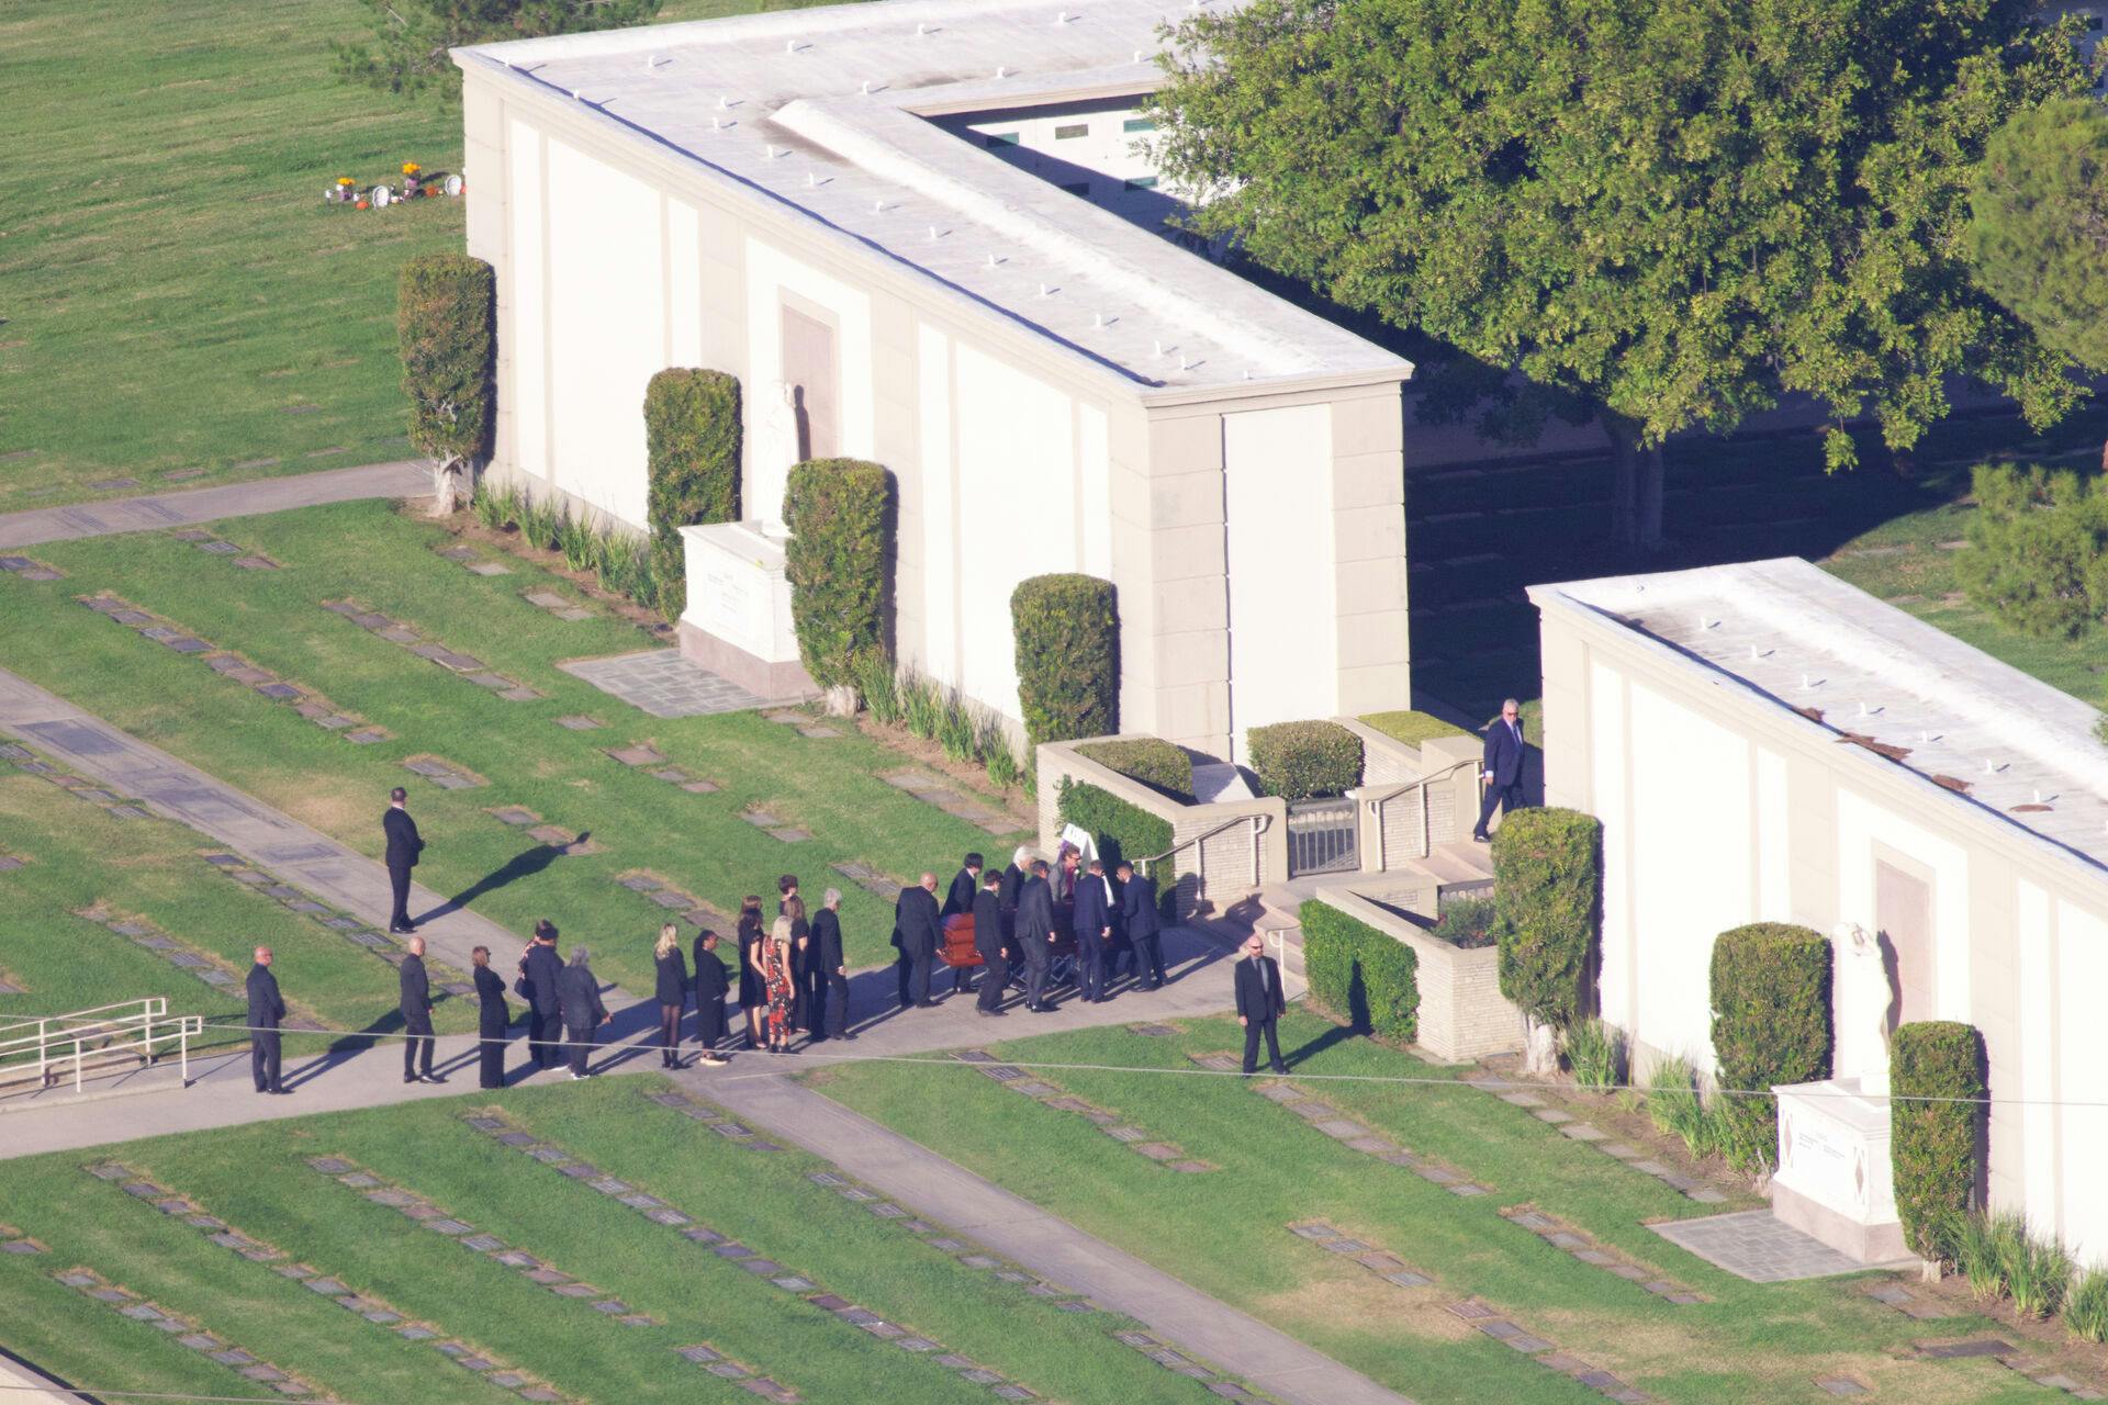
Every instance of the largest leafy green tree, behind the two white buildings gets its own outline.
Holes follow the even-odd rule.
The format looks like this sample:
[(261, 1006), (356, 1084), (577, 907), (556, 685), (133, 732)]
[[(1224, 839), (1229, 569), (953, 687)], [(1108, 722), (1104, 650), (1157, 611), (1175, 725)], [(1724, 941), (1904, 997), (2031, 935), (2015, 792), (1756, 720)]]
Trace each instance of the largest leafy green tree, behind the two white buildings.
[[(1174, 32), (1162, 166), (1202, 234), (1594, 409), (1615, 533), (1661, 537), (1665, 436), (1783, 394), (1904, 449), (1977, 375), (2083, 390), (1969, 276), (1971, 171), (2087, 86), (2034, 0), (1254, 0)], [(1528, 415), (1522, 415), (1526, 421)]]

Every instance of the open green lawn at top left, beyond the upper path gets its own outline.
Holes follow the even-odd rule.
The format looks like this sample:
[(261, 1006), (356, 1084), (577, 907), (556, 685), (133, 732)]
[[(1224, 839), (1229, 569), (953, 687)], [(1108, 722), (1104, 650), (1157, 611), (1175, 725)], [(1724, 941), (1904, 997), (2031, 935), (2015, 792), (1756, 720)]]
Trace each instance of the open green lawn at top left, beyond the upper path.
[(460, 249), (462, 202), (323, 187), (457, 169), (462, 120), (337, 82), (363, 32), (356, 0), (0, 8), (0, 512), (409, 453), (396, 268)]

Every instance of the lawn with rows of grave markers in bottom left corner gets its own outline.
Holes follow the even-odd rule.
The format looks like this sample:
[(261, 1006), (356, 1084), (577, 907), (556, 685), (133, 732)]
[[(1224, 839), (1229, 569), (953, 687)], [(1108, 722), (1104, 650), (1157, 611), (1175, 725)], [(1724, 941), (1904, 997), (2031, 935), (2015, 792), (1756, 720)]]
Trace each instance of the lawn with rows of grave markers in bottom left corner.
[[(706, 1342), (814, 1405), (972, 1405), (984, 1386), (936, 1352), (890, 1340), (801, 1302), (837, 1293), (972, 1357), (1041, 1399), (1197, 1405), (1214, 1399), (1113, 1331), (1111, 1312), (1065, 1312), (993, 1270), (955, 1262), (900, 1222), (868, 1213), (807, 1180), (824, 1163), (801, 1152), (753, 1152), (645, 1100), (656, 1076), (586, 1087), (516, 1089), (491, 1104), (519, 1127), (622, 1178), (689, 1218), (805, 1277), (782, 1289), (685, 1241), (637, 1209), (512, 1152), (468, 1127), (468, 1100), (333, 1114), (232, 1131), (135, 1142), (6, 1165), (4, 1218), (48, 1247), (0, 1255), (0, 1342), (61, 1376), (103, 1390), (259, 1390), (150, 1325), (57, 1283), (84, 1266), (156, 1308), (194, 1319), (264, 1361), (346, 1401), (453, 1403), (504, 1399), (447, 1365), (441, 1342), (548, 1382), (571, 1401), (750, 1401), (675, 1354)], [(491, 1251), (434, 1234), (308, 1165), (339, 1156), (384, 1186), (422, 1196), (557, 1272), (620, 1298), (651, 1325), (622, 1325), (594, 1298), (538, 1287)], [(156, 1213), (89, 1165), (118, 1161), (188, 1196), (261, 1245), (276, 1264), (306, 1264), (438, 1335), (405, 1340), (396, 1325), (348, 1312), (276, 1264), (215, 1245), (207, 1228)], [(942, 1230), (932, 1230), (940, 1234)]]

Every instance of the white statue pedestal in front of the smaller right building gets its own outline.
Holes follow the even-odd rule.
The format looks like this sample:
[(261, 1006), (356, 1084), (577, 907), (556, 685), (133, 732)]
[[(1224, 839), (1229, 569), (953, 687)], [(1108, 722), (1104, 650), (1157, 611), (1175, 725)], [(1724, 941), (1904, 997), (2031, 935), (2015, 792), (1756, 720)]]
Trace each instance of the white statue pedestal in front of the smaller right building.
[(1826, 1079), (1775, 1087), (1779, 1169), (1771, 1213), (1861, 1264), (1914, 1258), (1895, 1215), (1887, 1087)]

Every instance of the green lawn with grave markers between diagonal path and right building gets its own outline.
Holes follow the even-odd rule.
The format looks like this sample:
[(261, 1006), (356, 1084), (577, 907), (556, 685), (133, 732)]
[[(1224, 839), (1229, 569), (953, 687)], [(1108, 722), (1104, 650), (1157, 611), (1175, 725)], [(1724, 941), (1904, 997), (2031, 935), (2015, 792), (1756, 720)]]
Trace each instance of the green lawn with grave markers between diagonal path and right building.
[[(1231, 1020), (1180, 1024), (1178, 1038), (1100, 1030), (993, 1049), (1020, 1062), (1189, 1070), (1189, 1055), (1240, 1043)], [(1444, 1310), (1467, 1295), (1682, 1405), (1828, 1399), (1813, 1382), (1832, 1371), (1897, 1401), (2041, 1397), (1992, 1363), (1897, 1359), (1916, 1338), (1960, 1335), (1982, 1323), (1927, 1327), (1872, 1302), (1855, 1281), (1754, 1285), (1682, 1253), (1642, 1222), (1716, 1213), (1712, 1207), (1568, 1142), (1520, 1108), (1448, 1083), (1410, 1055), (1341, 1036), (1301, 1011), (1284, 1022), (1284, 1045), (1305, 1049), (1294, 1064), (1305, 1074), (1423, 1081), (1303, 1087), (1414, 1152), (1448, 1161), (1492, 1194), (1459, 1199), (1349, 1150), (1235, 1076), (1043, 1070), (1221, 1167), (1208, 1175), (1149, 1165), (1086, 1119), (965, 1068), (934, 1074), (860, 1064), (807, 1074), (807, 1083), (1423, 1405), (1600, 1399)], [(936, 1079), (944, 1079), (940, 1095), (932, 1095)], [(1665, 1304), (1501, 1220), (1501, 1207), (1522, 1203), (1712, 1302)], [(1286, 1226), (1307, 1220), (1398, 1253), (1436, 1285), (1395, 1287), (1294, 1239)]]

